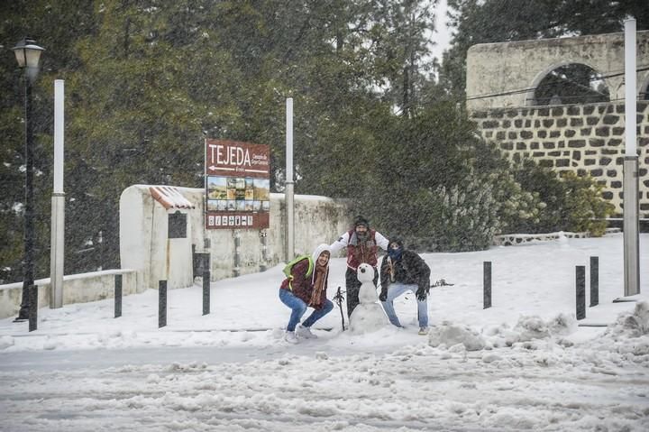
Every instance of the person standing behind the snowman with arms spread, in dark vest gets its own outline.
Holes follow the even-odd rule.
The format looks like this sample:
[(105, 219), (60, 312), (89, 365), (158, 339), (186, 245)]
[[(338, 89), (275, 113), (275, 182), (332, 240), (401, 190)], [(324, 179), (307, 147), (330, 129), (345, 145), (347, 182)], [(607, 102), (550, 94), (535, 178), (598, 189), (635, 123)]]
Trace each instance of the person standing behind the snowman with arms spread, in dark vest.
[(363, 216), (356, 216), (352, 230), (343, 233), (329, 249), (336, 253), (347, 248), (347, 271), (345, 272), (345, 289), (347, 290), (347, 316), (352, 317), (353, 309), (359, 304), (358, 293), (361, 282), (356, 277), (356, 269), (362, 263), (370, 264), (374, 268), (374, 286), (379, 280), (377, 265), (379, 247), (388, 250), (388, 239), (374, 229)]

